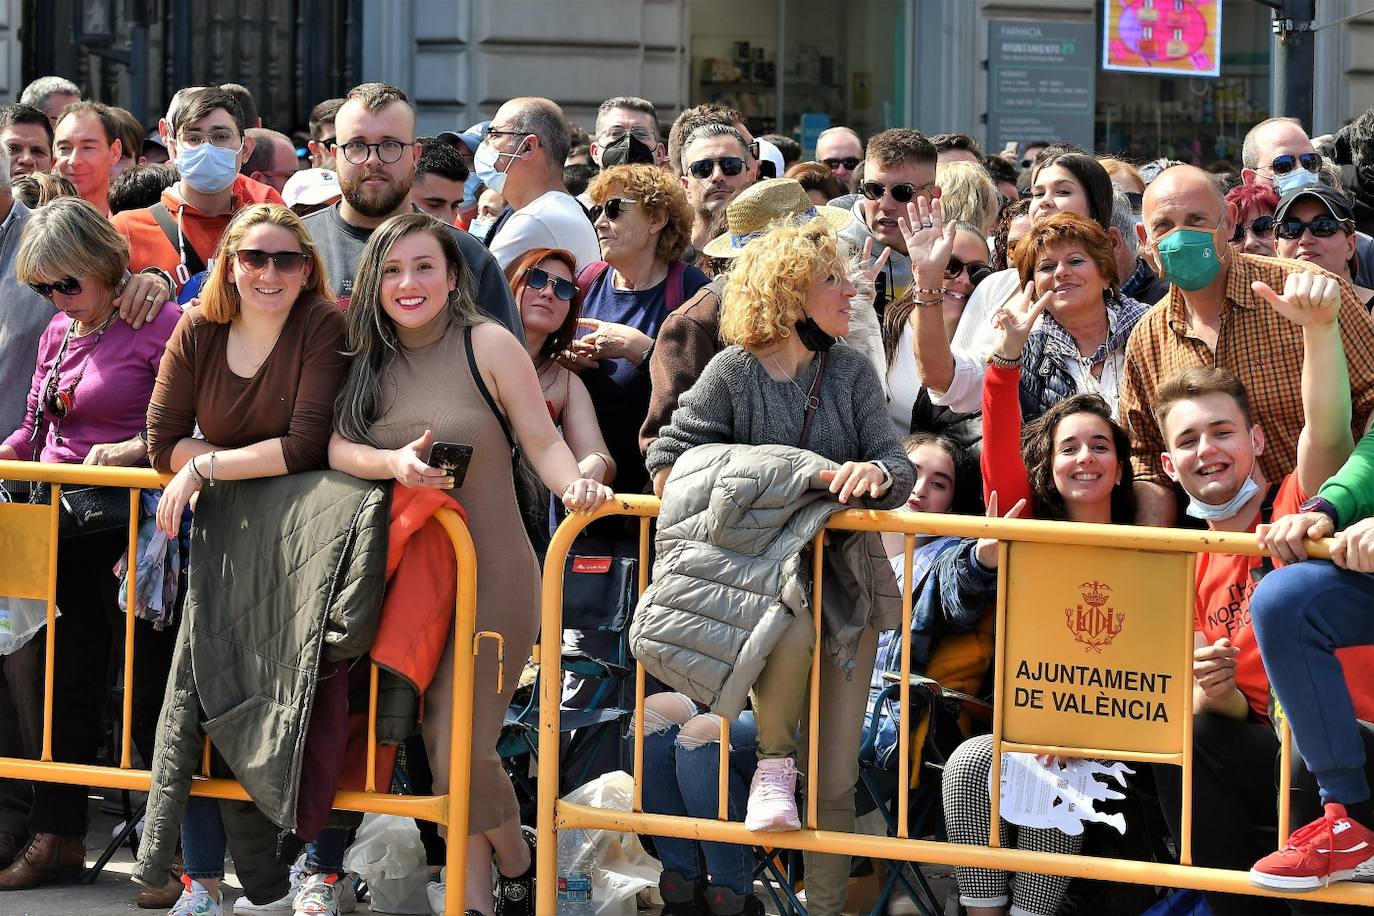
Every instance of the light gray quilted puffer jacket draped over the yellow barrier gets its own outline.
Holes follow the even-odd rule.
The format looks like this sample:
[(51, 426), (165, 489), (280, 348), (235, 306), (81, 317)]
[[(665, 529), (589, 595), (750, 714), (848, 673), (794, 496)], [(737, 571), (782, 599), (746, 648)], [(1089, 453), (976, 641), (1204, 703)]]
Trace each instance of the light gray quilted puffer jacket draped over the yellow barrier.
[[(786, 445), (701, 445), (677, 460), (629, 630), (650, 674), (727, 718), (743, 710), (787, 618), (811, 612), (805, 551), (848, 508), (820, 479), (837, 467)], [(823, 585), (824, 652), (852, 674), (864, 629), (901, 617), (882, 540), (833, 533)]]

